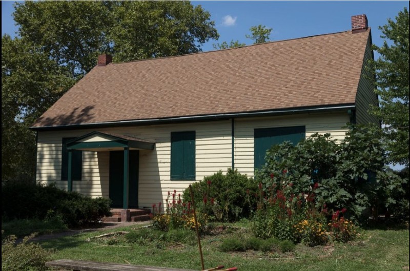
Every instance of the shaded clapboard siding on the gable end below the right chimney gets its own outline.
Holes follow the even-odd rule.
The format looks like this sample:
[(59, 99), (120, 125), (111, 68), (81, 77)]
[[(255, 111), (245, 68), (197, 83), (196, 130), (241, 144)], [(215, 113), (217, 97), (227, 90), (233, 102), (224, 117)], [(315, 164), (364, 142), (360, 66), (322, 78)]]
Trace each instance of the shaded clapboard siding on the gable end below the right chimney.
[(369, 105), (378, 106), (378, 98), (374, 93), (374, 85), (368, 79), (372, 76), (366, 70), (368, 60), (373, 59), (371, 49), (371, 36), (367, 40), (366, 51), (364, 54), (364, 61), (362, 67), (362, 74), (360, 76), (359, 85), (356, 93), (356, 122), (357, 123), (376, 123), (380, 124), (379, 120), (368, 113)]

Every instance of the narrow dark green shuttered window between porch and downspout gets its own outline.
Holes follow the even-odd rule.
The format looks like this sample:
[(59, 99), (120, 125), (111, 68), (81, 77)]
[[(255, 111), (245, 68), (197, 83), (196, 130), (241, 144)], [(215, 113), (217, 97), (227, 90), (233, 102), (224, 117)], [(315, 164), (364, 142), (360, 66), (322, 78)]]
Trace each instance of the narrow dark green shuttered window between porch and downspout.
[(195, 180), (195, 131), (171, 133), (171, 180)]

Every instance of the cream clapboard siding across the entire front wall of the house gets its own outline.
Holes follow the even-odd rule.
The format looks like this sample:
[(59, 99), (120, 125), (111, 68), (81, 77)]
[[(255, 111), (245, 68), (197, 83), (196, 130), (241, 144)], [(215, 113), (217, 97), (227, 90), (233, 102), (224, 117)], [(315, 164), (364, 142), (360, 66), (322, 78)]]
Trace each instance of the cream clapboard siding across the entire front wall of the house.
[[(348, 122), (347, 113), (304, 114), (235, 120), (235, 168), (253, 176), (253, 136), (255, 128), (306, 126), (306, 136), (330, 132), (344, 137), (340, 127)], [(94, 130), (38, 132), (37, 180), (67, 189), (61, 181), (61, 138), (78, 137)], [(171, 132), (195, 131), (196, 180), (232, 166), (231, 120), (162, 124), (143, 127), (98, 129), (100, 132), (130, 135), (154, 140), (155, 149), (139, 151), (139, 207), (165, 203), (168, 192), (182, 193), (192, 181), (170, 180)], [(109, 196), (109, 152), (83, 151), (81, 180), (73, 181), (73, 190), (92, 197)]]

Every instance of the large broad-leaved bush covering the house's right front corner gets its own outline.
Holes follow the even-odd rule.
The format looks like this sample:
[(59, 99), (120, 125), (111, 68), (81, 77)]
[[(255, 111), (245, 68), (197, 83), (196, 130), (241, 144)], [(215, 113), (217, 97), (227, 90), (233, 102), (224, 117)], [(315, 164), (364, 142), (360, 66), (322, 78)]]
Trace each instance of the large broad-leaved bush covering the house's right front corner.
[(330, 134), (314, 134), (296, 146), (290, 142), (274, 145), (255, 174), (265, 196), (288, 185), (292, 189), (285, 196), (315, 190), (316, 208), (323, 204), (331, 211), (345, 207), (345, 217), (357, 222), (368, 218), (365, 210), (391, 205), (393, 191), (403, 191), (402, 179), (384, 166), (380, 130), (353, 124), (348, 128), (339, 144)]

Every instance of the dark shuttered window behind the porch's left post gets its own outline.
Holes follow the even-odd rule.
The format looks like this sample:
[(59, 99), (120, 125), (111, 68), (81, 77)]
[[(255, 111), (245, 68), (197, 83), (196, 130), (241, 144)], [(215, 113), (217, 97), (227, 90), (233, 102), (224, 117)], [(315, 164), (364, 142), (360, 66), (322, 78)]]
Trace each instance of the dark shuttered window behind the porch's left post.
[[(67, 142), (74, 138), (63, 138), (63, 156), (61, 157), (61, 180), (68, 180), (68, 150)], [(83, 151), (72, 151), (71, 176), (73, 180), (81, 180), (81, 168), (83, 167)]]

